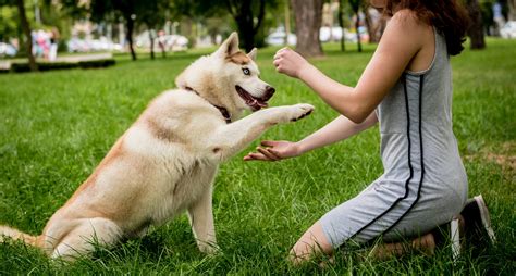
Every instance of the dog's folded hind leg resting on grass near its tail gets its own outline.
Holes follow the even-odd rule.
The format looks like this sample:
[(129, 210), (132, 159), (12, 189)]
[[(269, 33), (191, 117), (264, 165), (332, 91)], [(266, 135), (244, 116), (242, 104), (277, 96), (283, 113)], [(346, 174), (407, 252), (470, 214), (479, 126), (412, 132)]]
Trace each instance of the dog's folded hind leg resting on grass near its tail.
[(51, 258), (73, 261), (95, 250), (95, 244), (109, 247), (122, 237), (122, 229), (112, 221), (101, 217), (84, 218), (63, 237)]

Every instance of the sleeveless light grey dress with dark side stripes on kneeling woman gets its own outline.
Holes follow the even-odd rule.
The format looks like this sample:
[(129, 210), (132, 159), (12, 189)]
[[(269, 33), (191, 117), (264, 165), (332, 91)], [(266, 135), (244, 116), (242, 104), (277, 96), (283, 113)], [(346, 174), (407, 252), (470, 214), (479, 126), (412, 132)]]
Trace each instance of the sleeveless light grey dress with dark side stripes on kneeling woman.
[(452, 70), (434, 30), (430, 67), (405, 72), (377, 109), (384, 173), (319, 221), (333, 247), (426, 234), (458, 214), (467, 176), (452, 129)]

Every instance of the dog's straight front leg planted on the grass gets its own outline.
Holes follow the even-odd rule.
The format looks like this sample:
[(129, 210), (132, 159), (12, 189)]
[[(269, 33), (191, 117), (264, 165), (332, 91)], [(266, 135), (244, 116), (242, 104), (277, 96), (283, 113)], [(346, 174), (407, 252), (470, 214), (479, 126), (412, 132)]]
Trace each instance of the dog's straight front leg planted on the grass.
[(204, 253), (217, 251), (217, 239), (213, 225), (213, 211), (211, 208), (212, 186), (188, 208), (188, 218), (194, 231), (199, 250)]

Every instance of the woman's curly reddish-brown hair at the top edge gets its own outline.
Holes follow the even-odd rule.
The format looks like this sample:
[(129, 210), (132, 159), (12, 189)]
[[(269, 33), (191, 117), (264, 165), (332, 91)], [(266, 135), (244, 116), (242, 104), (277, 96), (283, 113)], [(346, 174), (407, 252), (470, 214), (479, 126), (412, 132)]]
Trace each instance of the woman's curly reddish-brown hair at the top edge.
[(444, 35), (450, 55), (459, 54), (464, 50), (469, 16), (459, 0), (388, 0), (384, 13), (392, 15), (393, 9), (408, 9), (420, 21), (433, 25)]

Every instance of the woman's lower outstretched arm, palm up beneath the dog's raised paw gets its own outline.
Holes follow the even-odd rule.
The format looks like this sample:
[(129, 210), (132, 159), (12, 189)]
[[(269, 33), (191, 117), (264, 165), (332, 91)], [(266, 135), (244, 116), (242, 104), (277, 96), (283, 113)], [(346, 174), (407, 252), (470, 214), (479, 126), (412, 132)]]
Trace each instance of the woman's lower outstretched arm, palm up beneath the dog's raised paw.
[(324, 127), (309, 135), (298, 142), (291, 141), (262, 141), (258, 152), (250, 152), (244, 156), (245, 161), (279, 161), (298, 156), (307, 151), (321, 148), (336, 141), (347, 139), (378, 122), (376, 112), (372, 112), (363, 123), (355, 124), (345, 116), (340, 115)]

